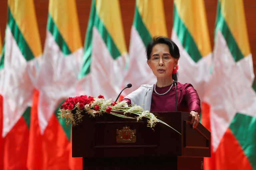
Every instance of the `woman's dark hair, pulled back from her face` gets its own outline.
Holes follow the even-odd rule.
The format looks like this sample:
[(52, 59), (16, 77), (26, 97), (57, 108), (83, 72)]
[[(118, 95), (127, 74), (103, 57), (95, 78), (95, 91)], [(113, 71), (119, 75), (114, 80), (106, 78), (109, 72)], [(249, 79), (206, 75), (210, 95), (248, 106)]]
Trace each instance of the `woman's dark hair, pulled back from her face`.
[[(180, 58), (180, 50), (179, 50), (178, 46), (171, 39), (169, 39), (167, 37), (159, 36), (159, 37), (154, 37), (153, 40), (151, 42), (149, 42), (147, 45), (146, 53), (147, 53), (148, 60), (150, 59), (152, 49), (156, 44), (168, 45), (169, 52), (170, 52), (171, 56), (173, 58), (177, 58), (177, 59)], [(172, 75), (172, 79), (176, 80), (176, 81), (178, 80), (177, 73)]]

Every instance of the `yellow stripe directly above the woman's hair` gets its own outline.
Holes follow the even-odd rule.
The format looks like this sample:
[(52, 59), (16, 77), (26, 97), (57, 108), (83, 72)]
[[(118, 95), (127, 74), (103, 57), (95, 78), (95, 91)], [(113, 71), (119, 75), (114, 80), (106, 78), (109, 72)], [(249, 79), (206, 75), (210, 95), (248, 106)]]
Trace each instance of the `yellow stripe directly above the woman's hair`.
[(136, 5), (151, 37), (167, 36), (163, 1), (137, 0)]

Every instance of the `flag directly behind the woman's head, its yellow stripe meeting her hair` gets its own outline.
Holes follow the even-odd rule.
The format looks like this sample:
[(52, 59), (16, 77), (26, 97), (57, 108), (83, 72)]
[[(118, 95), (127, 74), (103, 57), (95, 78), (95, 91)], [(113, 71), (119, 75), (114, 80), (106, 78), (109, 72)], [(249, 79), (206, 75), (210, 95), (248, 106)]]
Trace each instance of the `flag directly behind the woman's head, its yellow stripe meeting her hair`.
[(154, 84), (156, 78), (147, 65), (145, 54), (147, 44), (155, 36), (167, 36), (163, 1), (136, 0), (131, 39), (129, 47), (129, 66), (124, 82), (132, 87), (126, 89), (124, 94), (129, 94), (142, 84)]

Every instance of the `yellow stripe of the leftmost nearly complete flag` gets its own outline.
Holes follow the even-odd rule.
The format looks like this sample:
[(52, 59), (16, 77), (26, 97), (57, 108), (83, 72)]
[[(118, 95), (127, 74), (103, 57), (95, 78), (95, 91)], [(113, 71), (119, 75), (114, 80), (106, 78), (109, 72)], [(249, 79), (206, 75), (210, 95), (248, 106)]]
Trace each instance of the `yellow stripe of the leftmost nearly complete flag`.
[[(33, 0), (8, 0), (13, 18), (34, 57), (42, 54)], [(36, 29), (30, 29), (36, 27)]]

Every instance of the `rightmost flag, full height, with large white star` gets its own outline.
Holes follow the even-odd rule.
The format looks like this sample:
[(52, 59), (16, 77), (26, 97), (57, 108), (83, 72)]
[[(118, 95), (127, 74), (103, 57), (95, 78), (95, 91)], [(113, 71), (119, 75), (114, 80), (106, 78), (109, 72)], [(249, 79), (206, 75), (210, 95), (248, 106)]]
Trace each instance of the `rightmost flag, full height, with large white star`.
[(256, 169), (256, 89), (242, 0), (218, 1), (214, 42), (204, 98), (213, 154), (205, 169)]

